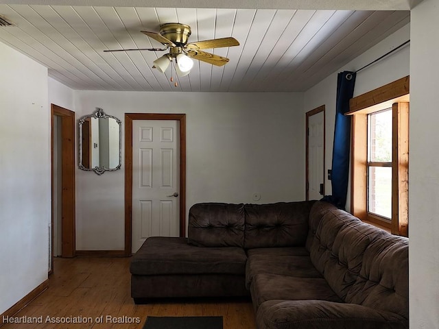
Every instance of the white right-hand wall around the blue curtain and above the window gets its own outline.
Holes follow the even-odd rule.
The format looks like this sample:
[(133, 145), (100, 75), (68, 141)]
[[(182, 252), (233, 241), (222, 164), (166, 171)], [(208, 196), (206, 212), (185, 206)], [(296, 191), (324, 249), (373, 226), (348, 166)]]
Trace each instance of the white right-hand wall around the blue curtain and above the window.
[[(405, 25), (396, 31), (385, 40), (379, 42), (378, 45), (372, 47), (368, 51), (361, 54), (348, 63), (346, 66), (340, 68), (338, 72), (342, 71), (356, 71), (361, 67), (381, 57), (391, 49), (401, 45), (403, 42), (410, 39), (410, 24)], [(332, 167), (332, 150), (334, 141), (334, 125), (335, 125), (335, 100), (337, 95), (337, 73), (329, 75), (322, 82), (313, 86), (305, 92), (304, 95), (304, 112), (318, 108), (318, 106), (325, 105), (326, 115), (326, 150), (325, 150), (325, 173), (327, 169)], [(401, 77), (410, 75), (410, 46), (403, 47), (398, 51), (392, 53), (387, 58), (368, 66), (368, 68), (357, 73), (355, 80), (354, 97), (367, 93), (370, 90), (398, 80)], [(305, 115), (302, 117), (305, 125)], [(305, 146), (304, 146), (305, 152)], [(331, 195), (331, 181), (327, 180), (325, 175), (325, 195)], [(350, 183), (349, 183), (350, 184)], [(348, 188), (348, 199), (346, 202), (346, 209), (349, 210), (351, 203), (350, 188)]]

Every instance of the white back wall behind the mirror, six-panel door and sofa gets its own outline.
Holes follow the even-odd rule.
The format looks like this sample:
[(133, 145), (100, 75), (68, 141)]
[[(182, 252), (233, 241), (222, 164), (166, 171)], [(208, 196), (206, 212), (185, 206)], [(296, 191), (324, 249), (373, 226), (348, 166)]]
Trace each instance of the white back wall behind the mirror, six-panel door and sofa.
[[(75, 103), (78, 116), (99, 107), (122, 127), (126, 112), (186, 113), (187, 209), (253, 193), (261, 203), (305, 198), (301, 94), (78, 91)], [(123, 164), (76, 174), (77, 249), (123, 249)]]

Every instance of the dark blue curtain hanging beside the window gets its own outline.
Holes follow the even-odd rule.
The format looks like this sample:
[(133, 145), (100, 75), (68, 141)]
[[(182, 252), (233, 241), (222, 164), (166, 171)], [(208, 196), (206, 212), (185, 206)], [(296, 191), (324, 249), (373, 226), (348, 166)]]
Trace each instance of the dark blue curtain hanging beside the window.
[(344, 114), (348, 112), (349, 99), (353, 97), (355, 76), (355, 73), (349, 71), (338, 73), (331, 172), (332, 195), (323, 198), (341, 209), (346, 206), (351, 150), (351, 116)]

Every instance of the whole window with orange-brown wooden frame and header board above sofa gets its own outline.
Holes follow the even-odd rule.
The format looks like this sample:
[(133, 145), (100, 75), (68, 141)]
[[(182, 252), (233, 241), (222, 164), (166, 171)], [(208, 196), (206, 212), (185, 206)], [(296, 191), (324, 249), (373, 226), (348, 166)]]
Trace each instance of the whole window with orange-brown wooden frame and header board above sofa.
[(351, 212), (408, 236), (409, 77), (351, 99)]

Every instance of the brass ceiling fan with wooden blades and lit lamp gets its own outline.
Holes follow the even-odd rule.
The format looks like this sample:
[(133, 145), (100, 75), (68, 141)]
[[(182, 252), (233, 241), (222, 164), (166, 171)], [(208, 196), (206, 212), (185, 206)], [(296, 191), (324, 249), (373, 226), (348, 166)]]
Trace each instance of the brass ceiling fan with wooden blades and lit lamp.
[(132, 50), (148, 50), (148, 51), (165, 51), (169, 49), (169, 53), (154, 60), (154, 68), (158, 69), (161, 73), (164, 73), (171, 64), (172, 60), (176, 60), (176, 73), (182, 77), (192, 69), (193, 61), (201, 60), (209, 64), (216, 66), (222, 66), (228, 62), (228, 58), (215, 55), (213, 53), (207, 53), (201, 49), (212, 49), (220, 47), (233, 47), (238, 46), (239, 42), (232, 37), (218, 38), (212, 40), (204, 40), (188, 43), (189, 36), (191, 35), (191, 27), (181, 23), (165, 23), (160, 25), (160, 33), (141, 31), (150, 38), (161, 42), (164, 48), (138, 48), (138, 49), (114, 49), (104, 51), (132, 51)]

